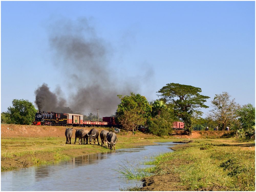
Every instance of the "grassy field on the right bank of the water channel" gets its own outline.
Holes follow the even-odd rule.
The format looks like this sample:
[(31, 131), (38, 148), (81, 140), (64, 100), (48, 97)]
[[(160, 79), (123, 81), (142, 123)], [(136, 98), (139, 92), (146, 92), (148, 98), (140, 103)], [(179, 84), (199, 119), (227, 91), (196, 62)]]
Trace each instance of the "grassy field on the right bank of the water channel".
[[(163, 176), (166, 185), (174, 187), (167, 190), (180, 186), (180, 190), (255, 191), (254, 140), (198, 139), (174, 149), (148, 162), (155, 167), (146, 172), (158, 178), (151, 178), (152, 187), (136, 190), (165, 190), (157, 188), (159, 176)], [(178, 182), (168, 183), (173, 175)]]

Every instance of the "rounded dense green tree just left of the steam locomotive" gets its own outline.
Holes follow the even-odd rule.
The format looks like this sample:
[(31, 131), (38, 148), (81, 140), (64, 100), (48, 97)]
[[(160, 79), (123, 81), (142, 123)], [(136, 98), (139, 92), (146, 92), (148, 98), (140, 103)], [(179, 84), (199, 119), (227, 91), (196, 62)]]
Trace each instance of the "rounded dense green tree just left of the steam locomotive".
[(33, 123), (37, 110), (31, 102), (24, 99), (14, 99), (12, 104), (13, 106), (8, 107), (7, 110), (12, 122), (20, 125), (30, 125)]

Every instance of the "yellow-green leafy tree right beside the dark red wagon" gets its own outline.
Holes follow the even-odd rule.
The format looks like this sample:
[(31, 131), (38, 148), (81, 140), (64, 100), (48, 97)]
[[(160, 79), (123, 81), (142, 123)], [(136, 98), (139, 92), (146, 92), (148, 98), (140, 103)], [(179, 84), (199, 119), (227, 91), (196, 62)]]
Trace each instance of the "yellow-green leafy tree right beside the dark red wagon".
[[(131, 117), (131, 115), (134, 116), (133, 122), (125, 123), (127, 125), (126, 130), (134, 131), (134, 127), (137, 128), (138, 125), (144, 125), (152, 111), (147, 99), (140, 94), (134, 94), (132, 92), (130, 95), (118, 95), (118, 97), (121, 99), (116, 110), (118, 120), (124, 123), (124, 121), (127, 122), (125, 119)], [(123, 124), (123, 126), (125, 125)]]

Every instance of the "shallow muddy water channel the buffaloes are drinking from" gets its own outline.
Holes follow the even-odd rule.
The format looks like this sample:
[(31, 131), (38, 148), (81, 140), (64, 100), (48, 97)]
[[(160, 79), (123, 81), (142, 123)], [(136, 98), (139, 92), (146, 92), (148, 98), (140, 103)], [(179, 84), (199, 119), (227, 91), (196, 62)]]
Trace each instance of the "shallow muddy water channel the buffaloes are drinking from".
[[(140, 186), (139, 180), (124, 178), (120, 165), (143, 168), (143, 162), (152, 161), (177, 143), (161, 142), (156, 145), (117, 149), (60, 161), (52, 165), (32, 166), (1, 172), (2, 191), (119, 191)], [(118, 146), (118, 144), (117, 144)], [(121, 166), (122, 167), (122, 166)]]

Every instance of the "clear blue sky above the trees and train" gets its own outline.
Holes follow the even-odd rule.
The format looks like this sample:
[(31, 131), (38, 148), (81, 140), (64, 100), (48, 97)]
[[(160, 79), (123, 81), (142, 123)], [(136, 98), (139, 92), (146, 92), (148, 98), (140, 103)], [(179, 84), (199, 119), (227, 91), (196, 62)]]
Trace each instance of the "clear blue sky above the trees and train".
[[(65, 42), (73, 37), (98, 43), (90, 46), (101, 50), (88, 61), (98, 62), (94, 69), (76, 53), (70, 60)], [(75, 66), (79, 62), (84, 66)], [(43, 83), (65, 93), (69, 106), (79, 89), (72, 83), (89, 90), (94, 82), (111, 82), (117, 93), (133, 91), (148, 101), (174, 82), (201, 88), (211, 97), (208, 106), (223, 91), (255, 106), (255, 2), (1, 2), (1, 112), (13, 99), (35, 105)], [(90, 112), (97, 113), (84, 114)]]

